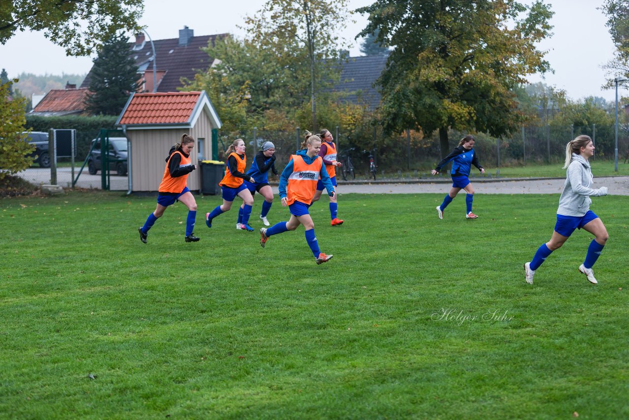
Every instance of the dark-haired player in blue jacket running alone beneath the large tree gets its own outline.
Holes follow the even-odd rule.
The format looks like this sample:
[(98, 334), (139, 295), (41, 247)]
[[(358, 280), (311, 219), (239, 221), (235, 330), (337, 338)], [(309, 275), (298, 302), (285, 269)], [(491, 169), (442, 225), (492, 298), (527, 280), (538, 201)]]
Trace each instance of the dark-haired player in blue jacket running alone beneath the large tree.
[(443, 199), (443, 203), (437, 206), (437, 215), (439, 219), (443, 219), (443, 210), (448, 207), (448, 204), (454, 200), (455, 196), (460, 190), (465, 190), (467, 195), (465, 196), (465, 204), (467, 210), (465, 211), (465, 219), (477, 219), (477, 215), (472, 213), (472, 201), (474, 201), (474, 187), (470, 183), (470, 170), (472, 165), (476, 166), (481, 174), (485, 173), (485, 169), (479, 164), (474, 152), (474, 136), (466, 135), (461, 139), (459, 145), (450, 152), (450, 154), (442, 159), (435, 169), (431, 171), (431, 174), (436, 175), (441, 172), (441, 168), (448, 162), (454, 161), (452, 164), (452, 189)]

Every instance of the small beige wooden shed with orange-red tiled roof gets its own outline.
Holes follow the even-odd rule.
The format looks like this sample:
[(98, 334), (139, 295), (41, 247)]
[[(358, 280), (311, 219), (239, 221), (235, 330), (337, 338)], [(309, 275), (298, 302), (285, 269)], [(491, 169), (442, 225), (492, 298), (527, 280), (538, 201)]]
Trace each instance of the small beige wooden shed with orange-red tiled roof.
[[(221, 120), (205, 91), (131, 94), (116, 126), (129, 139), (130, 191), (158, 190), (170, 147), (183, 134), (196, 139), (190, 156), (194, 164), (218, 153)], [(201, 189), (199, 169), (188, 176), (191, 191)]]

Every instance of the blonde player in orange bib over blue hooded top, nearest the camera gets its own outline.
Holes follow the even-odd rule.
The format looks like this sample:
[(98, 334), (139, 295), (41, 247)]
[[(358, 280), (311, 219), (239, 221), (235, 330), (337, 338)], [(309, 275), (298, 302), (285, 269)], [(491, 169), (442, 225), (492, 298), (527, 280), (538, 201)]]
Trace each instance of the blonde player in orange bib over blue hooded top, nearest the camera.
[(270, 236), (281, 234), (287, 230), (295, 230), (301, 224), (306, 229), (306, 242), (315, 256), (317, 264), (325, 263), (332, 258), (319, 249), (315, 237), (315, 224), (313, 223), (308, 207), (312, 202), (316, 191), (316, 184), (321, 176), (321, 182), (331, 198), (335, 198), (335, 191), (330, 181), (328, 172), (324, 169), (323, 159), (318, 156), (321, 149), (321, 139), (305, 132), (306, 141), (301, 144), (302, 149), (291, 156), (291, 160), (282, 171), (279, 180), (279, 196), (282, 198), (282, 206), (288, 206), (291, 219), (288, 222), (279, 222), (269, 228), (260, 229), (260, 245), (264, 248)]

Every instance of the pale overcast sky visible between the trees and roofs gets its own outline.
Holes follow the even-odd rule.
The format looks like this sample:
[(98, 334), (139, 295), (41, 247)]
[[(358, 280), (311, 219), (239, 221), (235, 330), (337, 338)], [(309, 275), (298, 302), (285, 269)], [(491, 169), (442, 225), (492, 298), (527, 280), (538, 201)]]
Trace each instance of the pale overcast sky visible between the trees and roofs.
[[(177, 38), (179, 30), (188, 26), (195, 35), (234, 33), (242, 37), (245, 15), (253, 15), (265, 0), (200, 1), (200, 0), (145, 0), (145, 12), (141, 25), (153, 40)], [(369, 0), (349, 0), (350, 8), (367, 6)], [(530, 0), (523, 0), (530, 3)], [(552, 4), (555, 16), (552, 25), (554, 35), (543, 41), (540, 49), (548, 50), (547, 60), (555, 74), (530, 77), (530, 81), (543, 81), (550, 86), (565, 89), (572, 99), (585, 96), (602, 96), (614, 100), (614, 90), (601, 90), (605, 72), (601, 65), (613, 57), (614, 46), (605, 26), (606, 18), (596, 8), (602, 0), (547, 0)], [(367, 18), (354, 15), (356, 23), (347, 22), (343, 36), (353, 47), (352, 56), (360, 55), (360, 41), (353, 38), (362, 30)], [(0, 45), (0, 68), (5, 68), (9, 77), (21, 72), (35, 74), (84, 74), (89, 71), (89, 57), (66, 57), (63, 48), (57, 47), (43, 37), (41, 32), (21, 32), (14, 35), (6, 45)], [(619, 96), (627, 94), (619, 89)]]

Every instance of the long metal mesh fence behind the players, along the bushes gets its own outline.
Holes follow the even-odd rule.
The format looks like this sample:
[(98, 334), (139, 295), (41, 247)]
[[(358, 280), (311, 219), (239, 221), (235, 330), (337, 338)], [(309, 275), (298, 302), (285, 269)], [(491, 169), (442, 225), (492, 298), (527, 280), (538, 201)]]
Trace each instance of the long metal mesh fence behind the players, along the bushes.
[[(367, 150), (376, 149), (376, 164), (378, 172), (385, 178), (399, 174), (411, 176), (426, 173), (441, 160), (442, 150), (437, 133), (421, 136), (408, 132), (398, 136), (385, 136), (378, 128), (362, 139), (353, 139), (352, 135), (345, 135), (342, 128), (329, 128), (337, 142), (338, 150), (353, 148), (352, 161), (356, 167), (357, 176), (367, 178), (369, 160)], [(526, 126), (510, 136), (496, 139), (482, 133), (474, 133), (476, 137), (475, 149), (479, 161), (485, 167), (493, 168), (494, 173), (499, 167), (526, 166), (538, 164), (561, 163), (565, 158), (567, 142), (577, 135), (589, 135), (596, 145), (596, 159), (613, 161), (615, 152), (615, 127), (613, 125), (599, 127), (588, 125), (576, 126)], [(467, 132), (452, 131), (448, 133), (449, 150), (454, 149), (459, 140)], [(270, 140), (276, 146), (276, 167), (279, 171), (286, 165), (290, 155), (299, 149), (303, 141), (303, 130), (294, 128), (287, 131), (270, 131), (260, 128), (249, 132), (242, 131), (219, 135), (219, 159), (224, 159), (224, 151), (237, 138), (242, 138), (247, 144), (247, 159), (251, 162), (262, 143)], [(629, 127), (618, 126), (618, 160), (629, 158)]]

